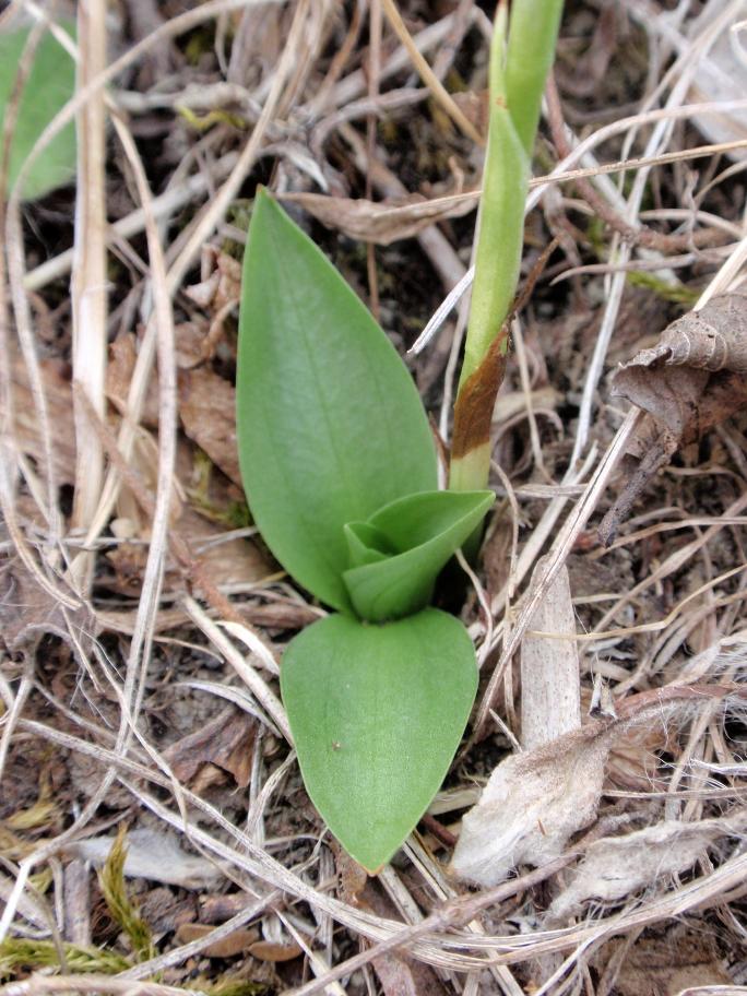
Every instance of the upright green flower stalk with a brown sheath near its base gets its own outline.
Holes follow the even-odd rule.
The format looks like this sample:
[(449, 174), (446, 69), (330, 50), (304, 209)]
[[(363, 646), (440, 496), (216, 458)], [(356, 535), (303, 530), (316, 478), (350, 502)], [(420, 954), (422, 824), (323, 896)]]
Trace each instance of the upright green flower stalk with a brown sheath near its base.
[(475, 280), (454, 404), (452, 490), (484, 488), (488, 481), (490, 417), (506, 369), (531, 156), (561, 11), (562, 0), (513, 0), (509, 15), (501, 0), (496, 13)]

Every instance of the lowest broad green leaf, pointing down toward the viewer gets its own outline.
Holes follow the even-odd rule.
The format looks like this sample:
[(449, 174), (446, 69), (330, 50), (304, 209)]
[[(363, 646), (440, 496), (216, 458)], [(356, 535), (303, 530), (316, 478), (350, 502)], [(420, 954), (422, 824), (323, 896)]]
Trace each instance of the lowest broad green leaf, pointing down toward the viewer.
[(477, 689), (466, 630), (435, 608), (384, 626), (329, 616), (290, 642), (281, 687), (311, 801), (376, 872), (430, 804), (464, 732)]

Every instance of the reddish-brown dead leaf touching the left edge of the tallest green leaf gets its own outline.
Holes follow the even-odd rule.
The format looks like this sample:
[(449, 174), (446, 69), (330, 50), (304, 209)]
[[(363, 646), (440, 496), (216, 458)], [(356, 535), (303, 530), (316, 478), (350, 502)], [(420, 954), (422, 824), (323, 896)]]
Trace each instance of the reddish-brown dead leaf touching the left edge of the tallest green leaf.
[(226, 477), (241, 487), (236, 449), (236, 391), (202, 367), (179, 375), (179, 414), (185, 432)]

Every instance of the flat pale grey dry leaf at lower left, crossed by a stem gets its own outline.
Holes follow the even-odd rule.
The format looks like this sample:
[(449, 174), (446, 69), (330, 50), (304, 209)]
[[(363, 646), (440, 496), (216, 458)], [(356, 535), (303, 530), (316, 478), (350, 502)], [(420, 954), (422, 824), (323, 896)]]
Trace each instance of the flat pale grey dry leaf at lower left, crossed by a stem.
[[(114, 842), (114, 837), (92, 837), (68, 844), (66, 850), (99, 868), (109, 856)], [(222, 878), (212, 862), (187, 854), (174, 838), (150, 829), (138, 829), (128, 834), (124, 875), (183, 889), (214, 888)]]

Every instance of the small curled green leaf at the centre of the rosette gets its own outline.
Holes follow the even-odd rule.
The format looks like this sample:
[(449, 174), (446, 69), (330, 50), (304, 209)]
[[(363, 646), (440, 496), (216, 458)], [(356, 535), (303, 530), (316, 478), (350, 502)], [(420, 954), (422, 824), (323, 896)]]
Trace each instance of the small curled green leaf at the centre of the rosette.
[[(363, 544), (361, 526), (383, 534), (395, 556), (369, 562), (359, 553), (343, 574), (351, 602), (361, 619), (380, 622), (424, 608), (436, 578), (449, 558), (483, 521), (495, 500), (493, 491), (427, 491), (408, 495), (380, 509), (366, 523), (349, 523)], [(376, 550), (378, 553), (380, 547)]]

